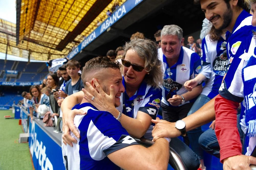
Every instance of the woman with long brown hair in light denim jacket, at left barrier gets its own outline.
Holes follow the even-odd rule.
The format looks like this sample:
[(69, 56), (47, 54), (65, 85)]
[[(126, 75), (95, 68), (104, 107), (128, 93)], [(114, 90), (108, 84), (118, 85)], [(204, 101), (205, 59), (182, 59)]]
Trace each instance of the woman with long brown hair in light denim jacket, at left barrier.
[[(35, 101), (36, 104), (36, 109), (38, 108), (39, 105), (41, 104), (45, 104), (46, 106), (50, 106), (50, 102), (49, 102), (49, 97), (46, 94), (42, 94), (41, 90), (38, 86), (31, 86), (29, 89), (29, 93), (31, 96), (33, 96), (33, 99)], [(34, 115), (36, 117), (38, 117), (38, 112), (36, 111), (36, 115)], [(31, 120), (33, 119), (33, 116), (31, 114)], [(43, 116), (41, 117), (43, 118)]]

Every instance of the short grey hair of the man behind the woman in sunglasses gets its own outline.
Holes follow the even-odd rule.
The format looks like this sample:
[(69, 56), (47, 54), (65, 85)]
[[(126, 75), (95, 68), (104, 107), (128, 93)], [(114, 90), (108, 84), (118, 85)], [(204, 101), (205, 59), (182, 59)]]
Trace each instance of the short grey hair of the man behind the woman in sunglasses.
[(161, 37), (163, 35), (177, 35), (179, 41), (182, 40), (183, 30), (178, 25), (165, 25), (161, 32)]

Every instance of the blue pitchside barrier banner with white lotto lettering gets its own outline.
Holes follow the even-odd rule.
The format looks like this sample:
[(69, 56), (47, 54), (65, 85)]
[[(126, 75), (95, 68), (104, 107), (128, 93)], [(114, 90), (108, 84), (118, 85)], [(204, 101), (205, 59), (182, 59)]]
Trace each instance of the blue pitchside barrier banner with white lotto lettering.
[(28, 142), (35, 169), (65, 169), (61, 147), (35, 121), (29, 121)]

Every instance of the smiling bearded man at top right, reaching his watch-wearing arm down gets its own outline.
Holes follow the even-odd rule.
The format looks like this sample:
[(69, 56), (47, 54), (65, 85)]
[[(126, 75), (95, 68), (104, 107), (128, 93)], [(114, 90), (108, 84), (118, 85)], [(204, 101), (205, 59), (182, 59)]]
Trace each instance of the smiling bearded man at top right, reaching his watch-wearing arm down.
[[(251, 30), (253, 29), (251, 25), (252, 16), (243, 10), (243, 0), (194, 0), (194, 2), (200, 2), (201, 9), (205, 13), (206, 18), (216, 29), (226, 29), (228, 31), (228, 36), (226, 38), (228, 70), (233, 58), (239, 57), (236, 55), (236, 52), (241, 42), (245, 41), (247, 36), (251, 34)], [(196, 85), (196, 82), (195, 84), (190, 84), (191, 87), (195, 87)], [(210, 100), (195, 113), (183, 119), (186, 123), (187, 131), (215, 119), (215, 98)], [(157, 123), (152, 131), (152, 136), (154, 137), (153, 141), (159, 137), (176, 137), (181, 134), (181, 132), (175, 128), (175, 123), (169, 123), (162, 120), (152, 120), (152, 122)], [(216, 134), (217, 136), (227, 135), (226, 133), (220, 134), (217, 131)], [(220, 159), (223, 161), (225, 158), (221, 157)]]

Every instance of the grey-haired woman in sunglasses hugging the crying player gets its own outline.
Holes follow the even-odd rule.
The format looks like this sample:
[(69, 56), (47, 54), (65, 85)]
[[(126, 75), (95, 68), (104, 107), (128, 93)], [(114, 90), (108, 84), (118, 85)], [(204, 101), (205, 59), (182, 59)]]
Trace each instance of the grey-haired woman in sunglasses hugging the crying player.
[[(114, 117), (120, 120), (130, 135), (136, 138), (152, 139), (153, 125), (151, 120), (156, 119), (160, 107), (162, 90), (159, 86), (163, 83), (162, 64), (157, 55), (157, 47), (153, 41), (136, 39), (125, 44), (122, 58), (125, 92), (120, 96), (121, 104), (117, 108), (113, 107), (112, 102), (113, 98), (117, 96), (100, 94), (95, 90), (92, 92), (93, 90), (82, 89), (83, 91), (68, 96), (63, 101), (64, 104), (61, 105), (63, 122), (65, 123), (63, 141), (71, 146), (72, 142), (76, 142), (69, 135), (69, 127), (79, 138), (79, 133), (73, 127), (73, 117), (83, 113), (81, 110), (70, 109), (79, 103), (83, 96), (97, 109), (112, 113)], [(94, 81), (94, 84), (98, 89), (101, 89), (100, 86), (97, 86), (97, 81)], [(182, 157), (188, 169), (197, 169), (199, 164), (194, 164), (194, 162), (199, 162), (198, 157), (181, 140), (172, 138), (170, 146)]]

